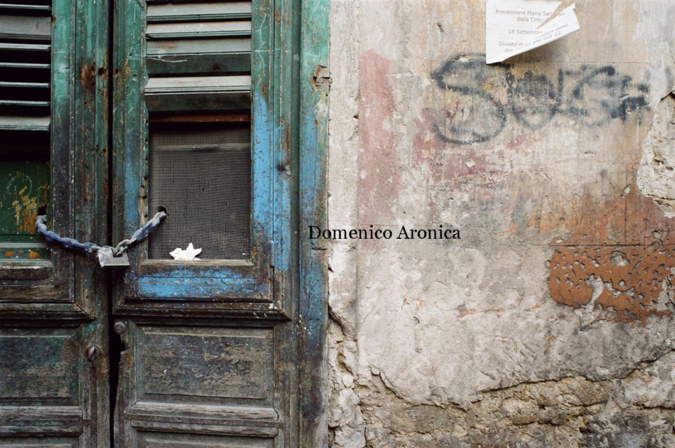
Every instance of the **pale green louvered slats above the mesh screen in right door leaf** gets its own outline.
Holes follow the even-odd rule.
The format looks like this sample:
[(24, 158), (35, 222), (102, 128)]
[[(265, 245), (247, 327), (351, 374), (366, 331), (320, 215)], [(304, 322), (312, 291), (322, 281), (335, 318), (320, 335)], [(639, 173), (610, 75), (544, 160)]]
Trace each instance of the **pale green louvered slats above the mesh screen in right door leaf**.
[(147, 1), (148, 110), (250, 107), (251, 2)]

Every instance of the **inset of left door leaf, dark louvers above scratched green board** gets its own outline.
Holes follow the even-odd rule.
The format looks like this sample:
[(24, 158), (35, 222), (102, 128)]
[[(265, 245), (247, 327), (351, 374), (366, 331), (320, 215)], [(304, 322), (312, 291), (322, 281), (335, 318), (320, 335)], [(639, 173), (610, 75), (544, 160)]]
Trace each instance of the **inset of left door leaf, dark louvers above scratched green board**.
[(49, 196), (50, 0), (0, 1), (0, 255), (46, 257), (34, 235)]

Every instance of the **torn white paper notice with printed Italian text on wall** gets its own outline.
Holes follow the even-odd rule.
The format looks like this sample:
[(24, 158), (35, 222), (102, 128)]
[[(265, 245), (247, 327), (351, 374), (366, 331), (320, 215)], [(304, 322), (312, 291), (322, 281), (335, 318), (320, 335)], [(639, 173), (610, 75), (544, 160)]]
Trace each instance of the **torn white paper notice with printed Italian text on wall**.
[(502, 62), (577, 31), (579, 22), (574, 4), (556, 11), (561, 4), (561, 1), (487, 0), (486, 62)]

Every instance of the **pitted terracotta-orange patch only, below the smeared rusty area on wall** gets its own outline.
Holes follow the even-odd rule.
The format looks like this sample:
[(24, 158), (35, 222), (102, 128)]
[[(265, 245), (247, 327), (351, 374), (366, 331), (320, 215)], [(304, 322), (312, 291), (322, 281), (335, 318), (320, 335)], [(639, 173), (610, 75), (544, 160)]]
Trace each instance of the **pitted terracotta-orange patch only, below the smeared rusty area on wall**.
[(573, 307), (589, 304), (595, 295), (595, 279), (602, 281), (602, 290), (600, 294), (596, 292), (594, 309), (613, 309), (614, 321), (644, 325), (649, 316), (673, 314), (673, 247), (556, 247), (549, 269), (549, 291), (560, 304)]

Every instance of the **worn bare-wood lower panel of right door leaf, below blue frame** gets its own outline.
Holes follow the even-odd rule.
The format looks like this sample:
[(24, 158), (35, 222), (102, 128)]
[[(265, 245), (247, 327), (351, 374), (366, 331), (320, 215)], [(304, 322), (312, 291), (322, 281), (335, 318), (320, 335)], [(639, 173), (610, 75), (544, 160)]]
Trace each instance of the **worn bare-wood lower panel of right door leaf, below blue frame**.
[[(274, 438), (279, 433), (273, 329), (124, 320), (116, 330), (126, 347), (119, 389), (119, 409), (126, 410), (119, 415), (121, 446), (122, 441), (164, 446), (177, 439), (186, 447), (237, 446), (237, 437), (197, 434)], [(185, 432), (195, 435), (178, 436)]]

